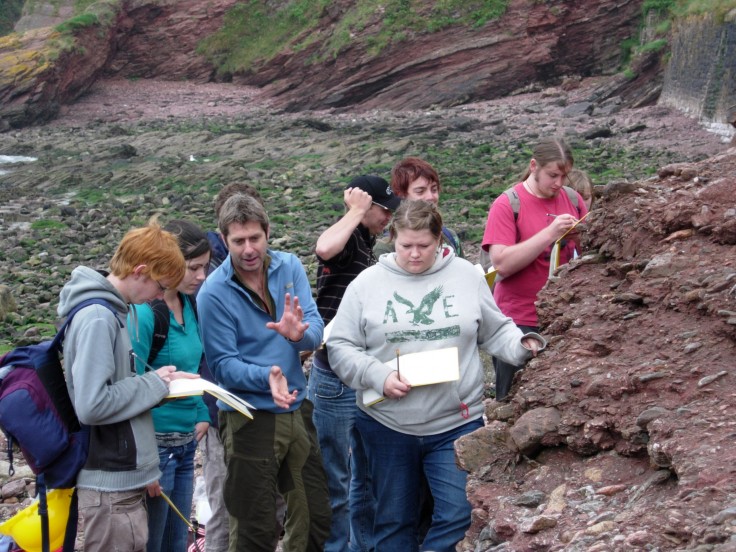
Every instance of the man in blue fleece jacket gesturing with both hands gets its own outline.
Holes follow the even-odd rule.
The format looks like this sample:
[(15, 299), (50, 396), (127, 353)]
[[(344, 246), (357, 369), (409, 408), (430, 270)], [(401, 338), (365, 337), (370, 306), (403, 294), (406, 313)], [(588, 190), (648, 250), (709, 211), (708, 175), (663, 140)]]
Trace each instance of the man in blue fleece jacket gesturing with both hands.
[(288, 511), (284, 552), (316, 552), (331, 514), (299, 353), (320, 345), (322, 318), (299, 259), (268, 248), (257, 200), (231, 197), (218, 226), (229, 256), (197, 296), (202, 342), (218, 384), (257, 409), (249, 420), (218, 404), (230, 552), (273, 550), (277, 491)]

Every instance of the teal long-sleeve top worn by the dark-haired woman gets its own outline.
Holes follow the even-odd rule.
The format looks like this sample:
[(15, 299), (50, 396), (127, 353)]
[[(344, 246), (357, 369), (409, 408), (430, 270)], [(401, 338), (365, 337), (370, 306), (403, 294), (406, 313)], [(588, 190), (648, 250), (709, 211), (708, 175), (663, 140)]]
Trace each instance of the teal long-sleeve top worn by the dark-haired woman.
[[(202, 341), (197, 317), (192, 303), (184, 299), (184, 324), (179, 324), (169, 311), (169, 334), (164, 346), (153, 360), (154, 369), (174, 365), (183, 372), (199, 373), (202, 358)], [(136, 371), (146, 370), (143, 361), (148, 359), (153, 338), (153, 310), (150, 305), (135, 305), (128, 314), (128, 328), (136, 358)], [(136, 320), (137, 319), (137, 320)], [(157, 433), (189, 433), (199, 422), (210, 422), (207, 406), (201, 396), (184, 397), (168, 401), (153, 409), (153, 426)]]

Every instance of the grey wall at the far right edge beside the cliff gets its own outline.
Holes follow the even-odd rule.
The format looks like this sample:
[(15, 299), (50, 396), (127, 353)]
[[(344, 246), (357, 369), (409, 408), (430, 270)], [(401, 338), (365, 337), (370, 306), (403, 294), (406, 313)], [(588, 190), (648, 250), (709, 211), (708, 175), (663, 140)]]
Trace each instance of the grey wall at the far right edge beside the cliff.
[(681, 22), (670, 44), (659, 103), (704, 123), (730, 126), (736, 106), (736, 10), (723, 22), (711, 15)]

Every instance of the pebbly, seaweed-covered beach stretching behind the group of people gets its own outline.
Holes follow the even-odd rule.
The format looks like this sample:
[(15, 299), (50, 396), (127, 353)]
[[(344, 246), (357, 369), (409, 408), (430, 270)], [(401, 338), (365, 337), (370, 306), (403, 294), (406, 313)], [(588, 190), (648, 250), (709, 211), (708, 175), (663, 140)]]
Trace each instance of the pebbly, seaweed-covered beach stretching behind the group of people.
[(723, 149), (671, 109), (596, 103), (609, 86), (570, 81), (452, 109), (286, 114), (248, 87), (101, 81), (53, 123), (3, 135), (0, 155), (38, 161), (0, 175), (0, 269), (18, 306), (0, 323), (2, 342), (48, 334), (70, 270), (104, 264), (132, 225), (160, 213), (212, 227), (212, 198), (233, 180), (260, 189), (275, 247), (297, 252), (313, 273), (314, 241), (340, 214), (344, 183), (388, 177), (405, 155), (437, 166), (445, 215), (472, 252), (488, 205), (540, 136), (565, 135), (599, 185)]

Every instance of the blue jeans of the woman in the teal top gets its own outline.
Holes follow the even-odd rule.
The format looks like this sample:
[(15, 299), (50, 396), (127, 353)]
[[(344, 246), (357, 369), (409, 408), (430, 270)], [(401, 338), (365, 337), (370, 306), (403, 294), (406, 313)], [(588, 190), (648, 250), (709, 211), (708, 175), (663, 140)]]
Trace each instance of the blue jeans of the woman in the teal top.
[[(179, 511), (189, 519), (194, 493), (194, 451), (196, 439), (186, 445), (158, 447), (161, 467), (161, 490)], [(187, 529), (184, 521), (163, 497), (146, 495), (148, 508), (148, 552), (181, 552), (187, 548)]]

